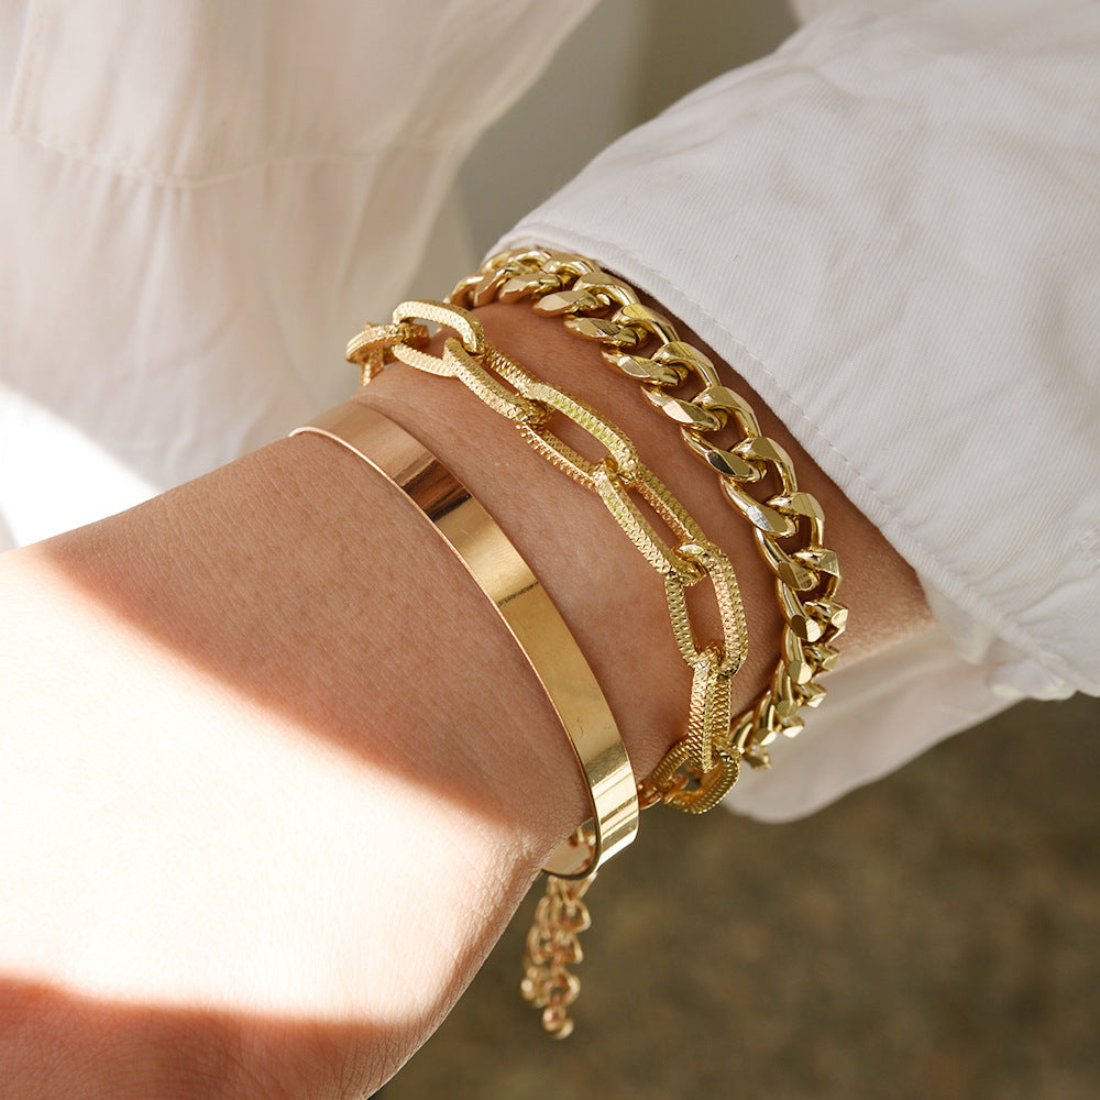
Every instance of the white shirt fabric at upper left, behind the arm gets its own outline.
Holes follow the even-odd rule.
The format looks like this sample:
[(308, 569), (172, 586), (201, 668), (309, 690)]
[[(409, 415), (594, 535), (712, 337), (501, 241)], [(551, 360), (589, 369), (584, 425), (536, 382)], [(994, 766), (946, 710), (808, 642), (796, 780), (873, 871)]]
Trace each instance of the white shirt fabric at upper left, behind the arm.
[(0, 550), (342, 399), (348, 334), (594, 3), (4, 0)]

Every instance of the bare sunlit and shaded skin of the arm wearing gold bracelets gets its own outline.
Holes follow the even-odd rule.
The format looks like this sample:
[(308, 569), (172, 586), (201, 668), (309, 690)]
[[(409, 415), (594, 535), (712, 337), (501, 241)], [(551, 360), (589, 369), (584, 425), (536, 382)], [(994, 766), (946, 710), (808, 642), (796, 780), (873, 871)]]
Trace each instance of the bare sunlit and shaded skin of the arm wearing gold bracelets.
[[(734, 705), (748, 705), (780, 628), (748, 526), (593, 345), (522, 304), (477, 312), (498, 346), (622, 427), (729, 554), (750, 637)], [(722, 370), (825, 509), (851, 613), (843, 660), (924, 629), (911, 570)], [(683, 728), (690, 674), (659, 578), (601, 502), (453, 380), (397, 366), (360, 399), (509, 534), (648, 772)], [(279, 441), (6, 554), (0, 606), (12, 1100), (370, 1091), (587, 816), (564, 734), (484, 595), (330, 441)], [(706, 635), (716, 615), (698, 606)]]

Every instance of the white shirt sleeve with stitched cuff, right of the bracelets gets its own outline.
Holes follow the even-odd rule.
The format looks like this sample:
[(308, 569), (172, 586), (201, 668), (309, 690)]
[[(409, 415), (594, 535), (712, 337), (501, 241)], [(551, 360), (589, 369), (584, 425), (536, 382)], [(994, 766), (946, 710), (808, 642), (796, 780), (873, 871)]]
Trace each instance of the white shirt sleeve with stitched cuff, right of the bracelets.
[(770, 818), (1013, 700), (1100, 694), (1100, 13), (818, 7), (501, 242), (657, 297), (925, 586), (939, 629), (835, 673), (735, 788)]

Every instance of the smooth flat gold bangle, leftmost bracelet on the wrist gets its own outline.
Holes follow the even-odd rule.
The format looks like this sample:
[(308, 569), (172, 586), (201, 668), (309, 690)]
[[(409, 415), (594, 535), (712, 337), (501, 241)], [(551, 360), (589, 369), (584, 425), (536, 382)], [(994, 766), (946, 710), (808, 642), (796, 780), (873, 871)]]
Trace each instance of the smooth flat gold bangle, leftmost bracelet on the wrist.
[(592, 799), (592, 820), (544, 870), (569, 879), (594, 873), (637, 834), (638, 791), (610, 707), (558, 608), (470, 491), (392, 420), (346, 402), (290, 432), (304, 433), (342, 444), (400, 490), (488, 596), (569, 735)]

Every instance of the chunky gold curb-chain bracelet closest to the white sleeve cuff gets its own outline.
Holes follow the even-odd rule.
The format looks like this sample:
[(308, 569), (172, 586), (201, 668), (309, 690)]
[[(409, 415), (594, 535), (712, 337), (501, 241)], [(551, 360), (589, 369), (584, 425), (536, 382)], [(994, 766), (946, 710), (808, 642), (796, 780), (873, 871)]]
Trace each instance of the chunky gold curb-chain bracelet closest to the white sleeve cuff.
[[(600, 345), (610, 367), (638, 382), (646, 399), (680, 427), (692, 454), (715, 471), (729, 505), (752, 525), (760, 554), (776, 576), (785, 626), (769, 688), (716, 738), (714, 750), (768, 767), (767, 746), (780, 733), (795, 736), (803, 725), (799, 711), (824, 697), (815, 678), (836, 663), (832, 641), (847, 622), (847, 608), (836, 601), (840, 568), (823, 544), (821, 505), (799, 491), (790, 455), (760, 433), (756, 414), (722, 385), (711, 360), (681, 341), (671, 322), (644, 305), (630, 286), (591, 260), (546, 249), (502, 252), (460, 282), (448, 300), (474, 308), (524, 298), (541, 316), (562, 317), (570, 331)], [(644, 349), (649, 350), (642, 354)], [(696, 392), (678, 396), (689, 378)], [(736, 428), (738, 438), (717, 442), (729, 428)], [(748, 491), (767, 484), (769, 475), (776, 492)], [(690, 787), (671, 782), (684, 773), (693, 781)], [(685, 754), (680, 743), (642, 783), (642, 801), (660, 799), (688, 813), (704, 813), (725, 794), (723, 790), (715, 798), (717, 790), (707, 779), (697, 757)]]

